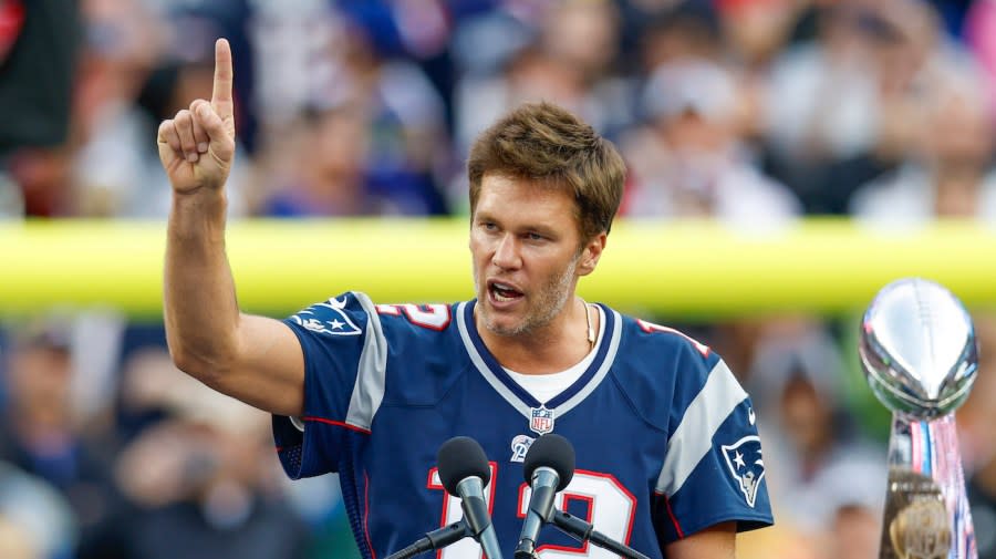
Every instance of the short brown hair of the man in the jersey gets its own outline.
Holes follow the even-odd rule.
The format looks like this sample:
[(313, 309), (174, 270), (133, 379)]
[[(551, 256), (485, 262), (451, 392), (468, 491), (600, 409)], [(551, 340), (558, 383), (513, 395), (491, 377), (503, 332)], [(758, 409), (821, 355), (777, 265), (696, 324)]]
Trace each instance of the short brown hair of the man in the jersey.
[(626, 165), (611, 142), (552, 103), (527, 103), (484, 131), (470, 148), (470, 211), (487, 174), (569, 188), (583, 240), (612, 227)]

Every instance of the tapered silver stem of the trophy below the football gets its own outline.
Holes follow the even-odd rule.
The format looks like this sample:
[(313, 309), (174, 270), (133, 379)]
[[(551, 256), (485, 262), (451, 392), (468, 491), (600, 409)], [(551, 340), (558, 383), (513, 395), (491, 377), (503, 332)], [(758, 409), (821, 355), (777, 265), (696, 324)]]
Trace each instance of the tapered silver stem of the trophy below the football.
[(880, 559), (977, 559), (953, 413), (894, 413)]

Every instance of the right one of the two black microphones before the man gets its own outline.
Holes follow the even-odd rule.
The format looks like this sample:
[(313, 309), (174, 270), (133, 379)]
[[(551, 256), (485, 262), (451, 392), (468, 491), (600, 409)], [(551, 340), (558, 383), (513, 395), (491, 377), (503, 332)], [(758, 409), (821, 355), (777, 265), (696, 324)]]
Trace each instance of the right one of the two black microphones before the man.
[(573, 445), (553, 433), (537, 438), (526, 453), (523, 474), (526, 483), (532, 487), (532, 495), (516, 546), (516, 559), (533, 559), (540, 528), (553, 517), (553, 497), (574, 476)]

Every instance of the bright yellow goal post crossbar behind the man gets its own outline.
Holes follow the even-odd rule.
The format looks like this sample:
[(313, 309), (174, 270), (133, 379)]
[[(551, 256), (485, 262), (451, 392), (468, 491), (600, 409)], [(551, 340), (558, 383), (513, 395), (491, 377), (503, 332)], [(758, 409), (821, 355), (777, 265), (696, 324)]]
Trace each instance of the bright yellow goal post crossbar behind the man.
[[(467, 234), (465, 218), (242, 220), (227, 242), (242, 308), (284, 315), (351, 289), (385, 303), (470, 298)], [(157, 319), (165, 239), (164, 221), (0, 222), (0, 314), (110, 306)], [(996, 229), (618, 220), (579, 291), (624, 311), (715, 320), (853, 312), (906, 276), (938, 281), (969, 307), (996, 307)]]

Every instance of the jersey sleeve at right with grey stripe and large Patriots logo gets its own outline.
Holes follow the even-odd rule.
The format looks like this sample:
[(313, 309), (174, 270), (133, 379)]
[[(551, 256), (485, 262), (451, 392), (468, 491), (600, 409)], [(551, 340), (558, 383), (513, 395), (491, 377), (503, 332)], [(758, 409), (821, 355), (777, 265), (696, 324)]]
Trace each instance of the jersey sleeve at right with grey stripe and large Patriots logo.
[(689, 346), (677, 362), (667, 452), (655, 487), (662, 545), (726, 521), (774, 524), (754, 407), (726, 363)]

